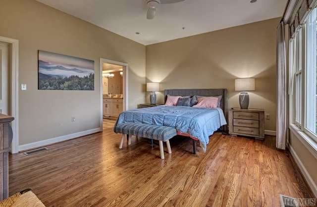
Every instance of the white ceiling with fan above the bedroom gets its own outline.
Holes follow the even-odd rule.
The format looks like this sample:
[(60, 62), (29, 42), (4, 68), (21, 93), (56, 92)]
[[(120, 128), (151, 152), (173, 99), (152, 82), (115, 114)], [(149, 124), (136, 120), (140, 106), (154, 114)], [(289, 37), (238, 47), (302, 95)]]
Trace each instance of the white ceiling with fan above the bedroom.
[(37, 1), (144, 45), (281, 17), (287, 3), (287, 0), (255, 3), (250, 0), (184, 0), (160, 4), (154, 19), (149, 20), (145, 0)]

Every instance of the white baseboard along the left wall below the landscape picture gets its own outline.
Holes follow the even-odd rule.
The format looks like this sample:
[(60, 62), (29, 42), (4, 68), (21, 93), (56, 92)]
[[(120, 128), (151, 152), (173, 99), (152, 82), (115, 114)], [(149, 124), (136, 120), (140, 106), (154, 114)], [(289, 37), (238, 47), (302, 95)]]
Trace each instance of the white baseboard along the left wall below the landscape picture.
[(54, 144), (54, 143), (57, 143), (57, 142), (66, 141), (68, 139), (73, 139), (73, 138), (76, 138), (76, 137), (80, 137), (80, 136), (84, 136), (84, 135), (88, 135), (88, 134), (92, 134), (92, 133), (96, 133), (96, 132), (100, 132), (100, 131), (102, 131), (101, 128), (94, 128), (94, 129), (90, 129), (90, 130), (87, 130), (87, 131), (81, 131), (81, 132), (77, 132), (77, 133), (73, 133), (73, 134), (68, 134), (68, 135), (64, 135), (64, 136), (54, 137), (54, 138), (51, 138), (51, 139), (46, 139), (46, 140), (43, 140), (43, 141), (38, 141), (38, 142), (29, 143), (29, 144), (19, 145), (19, 152), (20, 151), (24, 151), (24, 150), (38, 148), (38, 147), (43, 147), (43, 146), (46, 146), (46, 145), (50, 145), (50, 144)]

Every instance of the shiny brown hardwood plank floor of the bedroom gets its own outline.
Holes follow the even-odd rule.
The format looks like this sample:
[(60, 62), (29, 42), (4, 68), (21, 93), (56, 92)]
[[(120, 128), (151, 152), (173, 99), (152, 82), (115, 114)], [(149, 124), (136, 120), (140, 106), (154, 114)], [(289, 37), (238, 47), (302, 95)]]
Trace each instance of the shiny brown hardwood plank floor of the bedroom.
[[(48, 146), (32, 155), (9, 156), (9, 195), (24, 188), (47, 207), (280, 206), (279, 194), (314, 198), (288, 152), (264, 141), (215, 133), (207, 151), (174, 137), (165, 160), (145, 138), (124, 142), (104, 132)], [(197, 145), (199, 146), (199, 145)]]

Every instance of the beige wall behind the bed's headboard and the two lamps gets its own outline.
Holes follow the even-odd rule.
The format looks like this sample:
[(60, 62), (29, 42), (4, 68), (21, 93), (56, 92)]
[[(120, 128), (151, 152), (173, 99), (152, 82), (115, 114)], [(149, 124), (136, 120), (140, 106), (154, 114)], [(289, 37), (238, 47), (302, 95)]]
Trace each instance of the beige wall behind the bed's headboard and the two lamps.
[(249, 92), (249, 108), (262, 108), (270, 114), (265, 130), (275, 131), (275, 33), (279, 20), (147, 45), (146, 78), (160, 83), (157, 102), (163, 103), (166, 88), (227, 88), (229, 108), (239, 107), (234, 79), (253, 77), (256, 90)]

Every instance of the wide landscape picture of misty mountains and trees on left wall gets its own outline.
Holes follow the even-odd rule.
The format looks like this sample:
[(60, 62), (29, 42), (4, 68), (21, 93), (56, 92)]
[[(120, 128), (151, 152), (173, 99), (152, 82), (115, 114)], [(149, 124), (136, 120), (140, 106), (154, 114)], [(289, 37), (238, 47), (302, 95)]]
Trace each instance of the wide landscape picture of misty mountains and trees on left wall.
[(39, 50), (40, 90), (94, 90), (93, 60)]

